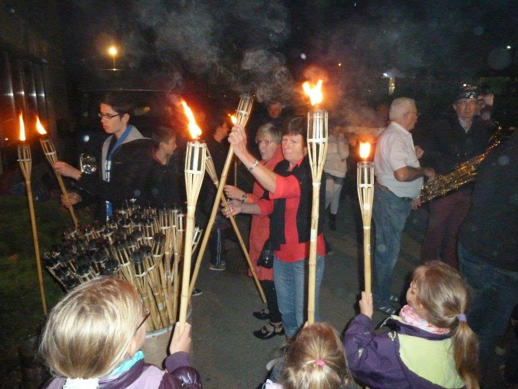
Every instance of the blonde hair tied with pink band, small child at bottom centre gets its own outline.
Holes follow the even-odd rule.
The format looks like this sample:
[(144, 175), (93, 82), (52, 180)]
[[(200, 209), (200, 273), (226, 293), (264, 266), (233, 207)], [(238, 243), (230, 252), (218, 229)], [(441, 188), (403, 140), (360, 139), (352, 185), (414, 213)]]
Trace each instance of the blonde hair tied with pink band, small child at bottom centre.
[(282, 359), (284, 389), (338, 389), (350, 375), (338, 332), (327, 323), (302, 328)]

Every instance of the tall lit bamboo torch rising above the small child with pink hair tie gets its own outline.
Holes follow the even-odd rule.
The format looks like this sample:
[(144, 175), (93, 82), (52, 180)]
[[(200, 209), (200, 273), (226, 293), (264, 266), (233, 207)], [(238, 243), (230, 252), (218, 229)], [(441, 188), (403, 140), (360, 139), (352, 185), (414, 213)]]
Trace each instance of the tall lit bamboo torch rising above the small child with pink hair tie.
[(312, 324), (315, 320), (316, 237), (319, 227), (320, 182), (327, 153), (327, 111), (318, 107), (323, 98), (322, 80), (319, 80), (313, 88), (306, 81), (303, 88), (314, 107), (308, 112), (308, 157), (313, 177), (309, 239), (308, 323)]

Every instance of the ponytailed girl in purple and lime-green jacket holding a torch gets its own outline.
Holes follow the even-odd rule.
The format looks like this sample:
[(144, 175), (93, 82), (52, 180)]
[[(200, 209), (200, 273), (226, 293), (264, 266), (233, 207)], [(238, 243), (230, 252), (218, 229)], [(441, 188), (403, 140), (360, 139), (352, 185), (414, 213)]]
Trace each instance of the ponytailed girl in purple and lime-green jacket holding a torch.
[(376, 335), (372, 295), (362, 292), (361, 314), (346, 331), (344, 346), (354, 376), (376, 388), (479, 389), (478, 339), (466, 323), (468, 290), (446, 263), (427, 262), (415, 269), (392, 328)]

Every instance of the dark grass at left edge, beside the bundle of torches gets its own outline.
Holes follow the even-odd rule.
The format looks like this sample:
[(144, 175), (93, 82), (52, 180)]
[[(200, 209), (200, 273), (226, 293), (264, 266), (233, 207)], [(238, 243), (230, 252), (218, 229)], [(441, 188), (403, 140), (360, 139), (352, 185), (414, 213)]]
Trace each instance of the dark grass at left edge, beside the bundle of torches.
[[(61, 242), (61, 231), (72, 220), (56, 199), (35, 202), (34, 207), (41, 255)], [(0, 210), (0, 366), (3, 370), (0, 386), (18, 388), (21, 381), (18, 346), (36, 334), (44, 315), (27, 198), (0, 196)], [(85, 215), (78, 217), (85, 220)], [(42, 271), (50, 310), (63, 292), (47, 271)]]

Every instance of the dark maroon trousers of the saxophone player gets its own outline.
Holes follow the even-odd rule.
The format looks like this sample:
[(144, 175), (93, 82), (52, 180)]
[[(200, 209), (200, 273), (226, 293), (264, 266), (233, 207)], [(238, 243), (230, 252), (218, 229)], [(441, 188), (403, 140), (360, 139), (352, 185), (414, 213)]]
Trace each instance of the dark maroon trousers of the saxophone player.
[(442, 260), (458, 269), (457, 235), (469, 211), (469, 195), (469, 190), (461, 189), (430, 203), (421, 263)]

